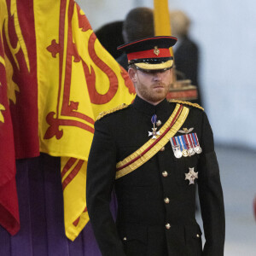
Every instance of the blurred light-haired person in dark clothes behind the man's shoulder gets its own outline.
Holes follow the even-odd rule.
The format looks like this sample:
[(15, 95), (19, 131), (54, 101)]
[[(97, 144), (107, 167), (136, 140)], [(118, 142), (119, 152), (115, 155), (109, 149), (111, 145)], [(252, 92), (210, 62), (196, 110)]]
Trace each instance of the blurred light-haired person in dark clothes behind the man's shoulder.
[(191, 21), (183, 11), (170, 12), (172, 35), (177, 37), (177, 44), (173, 47), (177, 79), (190, 79), (191, 84), (197, 86), (198, 99), (192, 102), (202, 105), (199, 74), (199, 49), (189, 37)]

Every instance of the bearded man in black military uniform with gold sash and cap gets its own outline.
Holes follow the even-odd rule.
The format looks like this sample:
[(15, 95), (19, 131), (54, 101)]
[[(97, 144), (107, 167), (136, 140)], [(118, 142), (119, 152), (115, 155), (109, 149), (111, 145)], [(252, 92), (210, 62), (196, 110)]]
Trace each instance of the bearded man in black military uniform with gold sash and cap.
[(166, 101), (176, 41), (154, 37), (119, 46), (137, 96), (100, 115), (87, 167), (87, 207), (102, 255), (224, 255), (224, 201), (207, 115), (199, 105)]

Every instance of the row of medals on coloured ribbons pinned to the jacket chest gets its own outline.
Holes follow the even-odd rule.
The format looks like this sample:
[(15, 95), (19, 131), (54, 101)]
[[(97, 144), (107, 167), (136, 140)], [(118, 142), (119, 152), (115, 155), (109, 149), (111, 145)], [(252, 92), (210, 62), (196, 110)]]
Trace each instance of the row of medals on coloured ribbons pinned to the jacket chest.
[(189, 133), (182, 136), (170, 138), (172, 150), (176, 158), (201, 154), (201, 147), (196, 133)]

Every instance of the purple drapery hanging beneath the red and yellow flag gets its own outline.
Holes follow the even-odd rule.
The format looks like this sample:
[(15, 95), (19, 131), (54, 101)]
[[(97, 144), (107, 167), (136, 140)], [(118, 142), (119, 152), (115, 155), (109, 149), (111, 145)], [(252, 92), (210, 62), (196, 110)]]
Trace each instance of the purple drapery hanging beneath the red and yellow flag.
[[(90, 222), (75, 241), (69, 241), (65, 236), (60, 158), (41, 154), (36, 158), (17, 160), (16, 166), (20, 231), (10, 236), (0, 226), (0, 255), (102, 255)], [(113, 212), (116, 207), (113, 200)]]

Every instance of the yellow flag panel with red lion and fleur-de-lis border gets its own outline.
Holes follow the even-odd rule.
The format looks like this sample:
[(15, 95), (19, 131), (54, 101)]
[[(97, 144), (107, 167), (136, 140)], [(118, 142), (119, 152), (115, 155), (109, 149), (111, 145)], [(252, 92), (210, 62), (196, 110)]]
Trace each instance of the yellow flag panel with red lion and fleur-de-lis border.
[(103, 49), (73, 0), (34, 0), (40, 151), (61, 156), (66, 235), (88, 222), (86, 166), (99, 113), (131, 103), (125, 70)]

